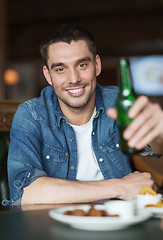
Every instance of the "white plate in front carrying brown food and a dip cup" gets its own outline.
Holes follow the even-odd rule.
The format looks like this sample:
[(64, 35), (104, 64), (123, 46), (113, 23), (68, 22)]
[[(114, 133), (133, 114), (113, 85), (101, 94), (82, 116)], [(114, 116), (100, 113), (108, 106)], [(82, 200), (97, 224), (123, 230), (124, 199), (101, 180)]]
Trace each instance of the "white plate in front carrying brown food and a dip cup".
[[(98, 209), (104, 210), (104, 205), (98, 205)], [(88, 211), (90, 205), (74, 205), (68, 207), (62, 207), (58, 209), (52, 209), (49, 211), (49, 216), (59, 222), (66, 223), (74, 228), (84, 230), (117, 230), (130, 227), (132, 225), (144, 222), (148, 220), (152, 213), (141, 210), (132, 219), (121, 219), (120, 217), (80, 217), (64, 215), (65, 211), (72, 211), (74, 209), (82, 209)]]

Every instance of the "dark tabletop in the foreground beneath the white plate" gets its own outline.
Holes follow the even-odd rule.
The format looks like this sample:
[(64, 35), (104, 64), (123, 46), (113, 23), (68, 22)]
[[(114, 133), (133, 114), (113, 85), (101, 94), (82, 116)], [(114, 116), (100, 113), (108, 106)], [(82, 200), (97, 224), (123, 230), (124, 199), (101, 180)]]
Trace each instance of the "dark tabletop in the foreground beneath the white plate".
[[(1, 240), (162, 240), (163, 219), (150, 220), (124, 230), (85, 231), (51, 219), (48, 212), (57, 205), (36, 205), (23, 209), (0, 209)], [(3, 210), (3, 211), (2, 211)]]

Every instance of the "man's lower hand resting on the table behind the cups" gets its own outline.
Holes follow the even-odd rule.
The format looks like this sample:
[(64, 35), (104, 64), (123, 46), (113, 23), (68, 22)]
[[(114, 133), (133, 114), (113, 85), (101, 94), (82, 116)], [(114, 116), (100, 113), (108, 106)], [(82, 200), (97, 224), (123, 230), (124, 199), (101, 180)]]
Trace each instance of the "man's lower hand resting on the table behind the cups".
[(136, 199), (137, 194), (144, 186), (153, 187), (154, 181), (150, 173), (140, 173), (138, 171), (130, 173), (120, 180), (120, 198), (124, 200)]

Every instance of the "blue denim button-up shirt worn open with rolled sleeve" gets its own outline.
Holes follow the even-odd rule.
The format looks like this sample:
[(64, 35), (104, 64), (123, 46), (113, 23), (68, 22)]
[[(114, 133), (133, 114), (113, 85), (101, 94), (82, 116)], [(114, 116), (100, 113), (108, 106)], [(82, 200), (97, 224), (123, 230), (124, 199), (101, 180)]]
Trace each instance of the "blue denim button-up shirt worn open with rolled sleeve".
[[(106, 113), (115, 105), (117, 93), (116, 86), (96, 87), (92, 146), (104, 179), (122, 178), (131, 172), (120, 151), (116, 122)], [(23, 188), (41, 176), (76, 180), (75, 132), (63, 116), (52, 86), (44, 88), (39, 98), (19, 105), (10, 137), (10, 201), (4, 200), (4, 205), (20, 204)]]

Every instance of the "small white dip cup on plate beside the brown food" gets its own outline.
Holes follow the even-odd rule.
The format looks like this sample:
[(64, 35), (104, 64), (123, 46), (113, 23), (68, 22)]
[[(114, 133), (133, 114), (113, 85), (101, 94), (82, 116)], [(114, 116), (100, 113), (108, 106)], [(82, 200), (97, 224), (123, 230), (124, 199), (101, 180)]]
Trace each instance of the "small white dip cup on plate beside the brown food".
[(131, 219), (135, 215), (136, 205), (134, 201), (110, 200), (105, 202), (108, 214), (117, 214), (121, 219)]

